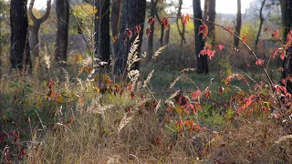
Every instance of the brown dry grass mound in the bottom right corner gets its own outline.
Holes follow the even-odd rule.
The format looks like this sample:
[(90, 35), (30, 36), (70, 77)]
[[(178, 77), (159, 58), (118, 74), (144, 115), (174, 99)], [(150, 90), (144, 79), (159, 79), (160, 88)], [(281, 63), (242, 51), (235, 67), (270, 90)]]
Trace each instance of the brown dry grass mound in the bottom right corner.
[(240, 121), (226, 131), (229, 138), (213, 138), (207, 159), (219, 163), (289, 163), (292, 140), (276, 141), (287, 134), (275, 121)]

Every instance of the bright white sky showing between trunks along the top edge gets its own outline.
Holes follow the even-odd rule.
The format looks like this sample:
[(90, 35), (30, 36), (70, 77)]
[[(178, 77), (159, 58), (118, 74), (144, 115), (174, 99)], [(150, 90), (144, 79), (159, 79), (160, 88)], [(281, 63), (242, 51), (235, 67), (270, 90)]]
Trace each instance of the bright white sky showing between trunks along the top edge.
[[(249, 8), (250, 3), (254, 0), (242, 0), (242, 13)], [(28, 0), (29, 4), (30, 0)], [(203, 6), (203, 0), (201, 0)], [(36, 0), (36, 9), (46, 8), (47, 0)], [(237, 0), (216, 0), (216, 13), (235, 14), (237, 13)], [(175, 10), (173, 7), (172, 10)], [(193, 0), (183, 0), (183, 13), (193, 14)]]

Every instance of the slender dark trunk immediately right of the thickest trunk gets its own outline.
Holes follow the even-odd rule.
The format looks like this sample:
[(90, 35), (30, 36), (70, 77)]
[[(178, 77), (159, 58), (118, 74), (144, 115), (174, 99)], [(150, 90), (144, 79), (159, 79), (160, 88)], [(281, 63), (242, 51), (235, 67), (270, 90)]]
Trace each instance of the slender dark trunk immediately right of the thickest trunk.
[[(156, 13), (156, 5), (158, 3), (158, 0), (156, 0), (156, 2), (154, 2), (154, 0), (151, 0), (151, 14), (150, 17), (155, 16)], [(153, 56), (153, 37), (154, 37), (154, 26), (155, 26), (155, 21), (151, 24), (150, 26), (150, 36), (148, 37), (148, 49), (147, 49), (147, 62), (151, 61), (151, 58)]]

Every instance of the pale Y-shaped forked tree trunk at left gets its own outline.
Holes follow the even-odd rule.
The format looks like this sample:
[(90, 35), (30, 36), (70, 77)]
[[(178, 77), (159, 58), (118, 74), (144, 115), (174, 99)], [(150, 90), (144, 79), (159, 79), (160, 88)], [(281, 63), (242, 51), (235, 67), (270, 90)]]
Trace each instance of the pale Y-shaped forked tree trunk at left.
[(50, 14), (51, 11), (51, 0), (47, 0), (47, 11), (45, 13), (45, 15), (43, 15), (40, 18), (36, 18), (36, 15), (33, 14), (33, 7), (35, 4), (35, 0), (31, 0), (30, 4), (29, 4), (29, 16), (31, 18), (31, 20), (33, 21), (33, 26), (29, 26), (29, 37), (31, 38), (30, 41), (32, 42), (31, 45), (33, 46), (33, 55), (34, 56), (38, 56), (39, 54), (39, 40), (38, 40), (38, 31), (39, 31), (39, 27), (41, 26), (42, 23), (44, 23), (47, 18), (48, 15)]

